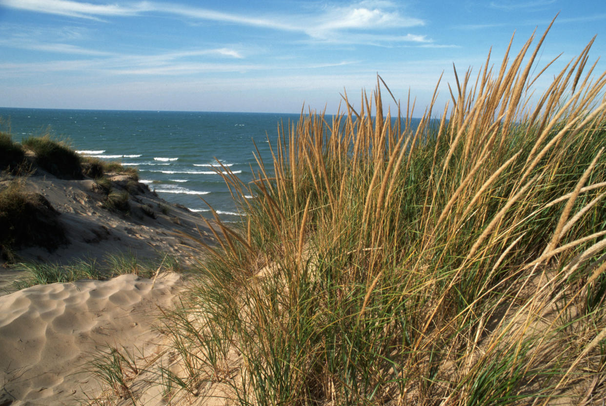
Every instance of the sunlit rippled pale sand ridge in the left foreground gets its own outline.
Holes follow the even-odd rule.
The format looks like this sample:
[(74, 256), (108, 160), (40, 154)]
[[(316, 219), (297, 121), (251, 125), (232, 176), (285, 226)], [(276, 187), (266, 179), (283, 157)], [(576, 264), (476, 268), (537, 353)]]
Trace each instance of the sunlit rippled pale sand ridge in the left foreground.
[(177, 273), (155, 282), (121, 275), (1, 296), (0, 404), (73, 405), (94, 396), (98, 382), (82, 373), (93, 353), (108, 346), (156, 351), (158, 307), (170, 308), (182, 285)]

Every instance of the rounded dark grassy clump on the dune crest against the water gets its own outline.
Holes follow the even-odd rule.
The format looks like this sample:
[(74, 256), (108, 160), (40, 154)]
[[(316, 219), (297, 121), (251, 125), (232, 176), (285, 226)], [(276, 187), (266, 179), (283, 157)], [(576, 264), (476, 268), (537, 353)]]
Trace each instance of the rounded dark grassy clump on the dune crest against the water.
[(82, 179), (80, 156), (64, 142), (45, 135), (24, 139), (22, 145), (36, 154), (36, 164), (45, 171), (62, 179)]

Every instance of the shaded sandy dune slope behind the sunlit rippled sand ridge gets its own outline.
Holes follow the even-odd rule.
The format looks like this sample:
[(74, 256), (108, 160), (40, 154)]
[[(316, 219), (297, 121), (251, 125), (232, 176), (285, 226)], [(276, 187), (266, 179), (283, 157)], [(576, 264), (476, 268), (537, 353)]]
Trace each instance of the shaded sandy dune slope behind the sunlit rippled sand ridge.
[[(116, 175), (110, 179), (114, 190), (126, 190), (127, 177)], [(0, 178), (0, 187), (10, 181), (10, 178)], [(144, 184), (131, 189), (130, 211), (125, 214), (102, 207), (105, 195), (92, 179), (58, 179), (38, 170), (36, 175), (22, 181), (25, 191), (41, 195), (58, 212), (57, 219), (65, 229), (67, 243), (54, 250), (18, 247), (15, 251), (18, 262), (68, 264), (87, 259), (103, 265), (108, 254), (123, 254), (159, 263), (164, 255), (170, 255), (188, 268), (196, 265), (201, 254), (196, 248), (188, 247), (196, 243), (187, 236), (213, 244), (201, 216), (169, 204)], [(24, 276), (0, 261), (0, 295), (15, 291), (13, 282)]]

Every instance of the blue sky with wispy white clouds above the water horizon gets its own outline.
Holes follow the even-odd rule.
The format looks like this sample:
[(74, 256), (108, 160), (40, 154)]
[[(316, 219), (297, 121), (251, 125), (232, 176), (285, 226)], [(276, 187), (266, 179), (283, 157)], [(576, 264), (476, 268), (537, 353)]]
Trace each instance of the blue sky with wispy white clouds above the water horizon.
[(381, 75), (421, 116), (558, 13), (539, 92), (594, 35), (606, 59), (606, 0), (0, 0), (0, 107), (335, 113)]

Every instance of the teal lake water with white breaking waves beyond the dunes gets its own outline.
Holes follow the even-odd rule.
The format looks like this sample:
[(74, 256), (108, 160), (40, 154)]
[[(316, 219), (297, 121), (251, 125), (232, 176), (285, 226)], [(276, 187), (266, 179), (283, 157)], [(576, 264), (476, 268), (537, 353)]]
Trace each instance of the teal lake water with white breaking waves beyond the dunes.
[(0, 117), (0, 128), (7, 131), (10, 125), (16, 141), (50, 127), (82, 155), (136, 166), (141, 181), (161, 198), (210, 217), (204, 198), (225, 221), (237, 221), (238, 209), (213, 171), (216, 159), (251, 181), (259, 169), (255, 144), (270, 164), (267, 137), (275, 145), (278, 123), (299, 119), (297, 114), (38, 108), (0, 108)]

